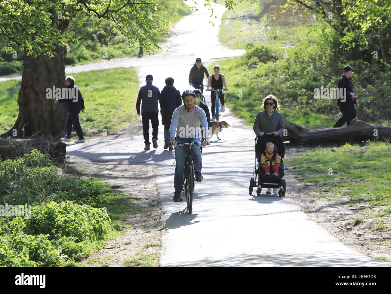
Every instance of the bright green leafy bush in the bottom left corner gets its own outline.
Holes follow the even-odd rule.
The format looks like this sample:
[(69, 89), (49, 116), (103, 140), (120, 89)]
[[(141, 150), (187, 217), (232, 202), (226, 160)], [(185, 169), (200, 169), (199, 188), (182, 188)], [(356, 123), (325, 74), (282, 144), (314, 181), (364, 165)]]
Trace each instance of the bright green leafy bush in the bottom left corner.
[(59, 266), (91, 253), (91, 241), (109, 233), (109, 215), (70, 201), (31, 208), (26, 216), (0, 217), (0, 266)]

